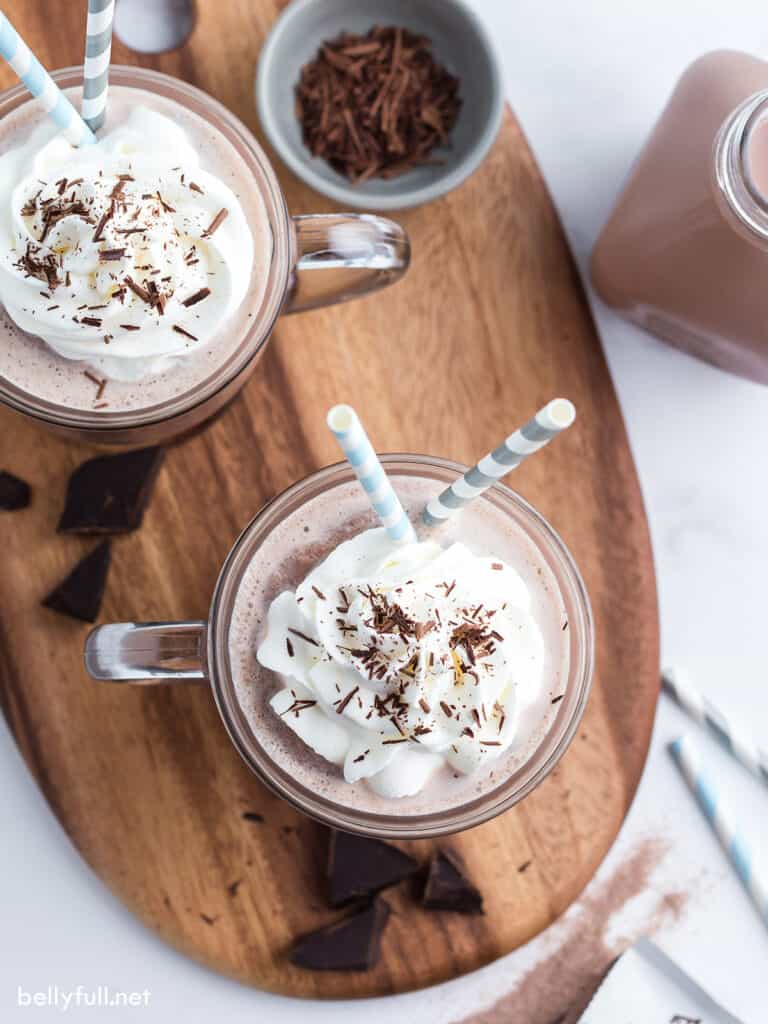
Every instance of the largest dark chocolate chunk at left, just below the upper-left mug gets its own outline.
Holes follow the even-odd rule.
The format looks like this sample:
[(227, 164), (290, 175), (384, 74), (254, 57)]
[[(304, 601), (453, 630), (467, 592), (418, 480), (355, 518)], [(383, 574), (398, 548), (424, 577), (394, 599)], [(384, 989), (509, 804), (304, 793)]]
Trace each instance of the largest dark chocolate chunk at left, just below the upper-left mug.
[(141, 524), (163, 450), (98, 456), (70, 477), (61, 534), (126, 534)]

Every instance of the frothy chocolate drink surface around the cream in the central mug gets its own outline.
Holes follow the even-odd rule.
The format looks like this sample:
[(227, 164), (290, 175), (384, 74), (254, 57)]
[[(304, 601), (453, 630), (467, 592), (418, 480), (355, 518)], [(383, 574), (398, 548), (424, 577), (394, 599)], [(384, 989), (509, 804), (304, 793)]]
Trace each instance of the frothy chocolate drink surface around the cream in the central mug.
[[(442, 485), (433, 479), (392, 477), (414, 521)], [(543, 638), (541, 685), (528, 693), (516, 716), (514, 739), (487, 767), (464, 774), (442, 764), (413, 796), (387, 799), (365, 780), (350, 783), (342, 768), (306, 745), (270, 707), (285, 685), (256, 655), (264, 641), (269, 606), (295, 590), (339, 544), (376, 525), (367, 498), (356, 483), (344, 484), (306, 504), (276, 525), (240, 583), (229, 627), (228, 652), (234, 691), (253, 737), (292, 778), (347, 808), (372, 813), (424, 814), (449, 810), (495, 788), (520, 768), (553, 725), (568, 678), (569, 641), (564, 602), (555, 577), (531, 540), (508, 515), (487, 502), (474, 503), (471, 515), (443, 526), (439, 544), (462, 542), (474, 555), (503, 559), (521, 578), (530, 595), (530, 613)], [(299, 644), (301, 641), (297, 640)]]

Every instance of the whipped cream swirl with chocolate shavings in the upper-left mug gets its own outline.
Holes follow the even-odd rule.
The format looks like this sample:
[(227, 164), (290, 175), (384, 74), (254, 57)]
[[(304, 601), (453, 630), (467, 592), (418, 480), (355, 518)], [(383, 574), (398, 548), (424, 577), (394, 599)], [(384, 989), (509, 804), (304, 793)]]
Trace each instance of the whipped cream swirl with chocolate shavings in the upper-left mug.
[(0, 302), (105, 377), (162, 373), (248, 290), (253, 239), (186, 133), (145, 106), (95, 145), (48, 124), (0, 157)]

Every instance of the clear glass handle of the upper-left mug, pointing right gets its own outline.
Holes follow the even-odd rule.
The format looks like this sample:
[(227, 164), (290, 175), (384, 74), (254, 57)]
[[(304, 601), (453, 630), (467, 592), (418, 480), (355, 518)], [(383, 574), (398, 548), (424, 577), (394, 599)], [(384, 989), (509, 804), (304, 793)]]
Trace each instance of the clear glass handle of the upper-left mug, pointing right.
[(393, 285), (408, 270), (404, 228), (370, 213), (293, 217), (296, 264), (284, 312), (344, 302)]

